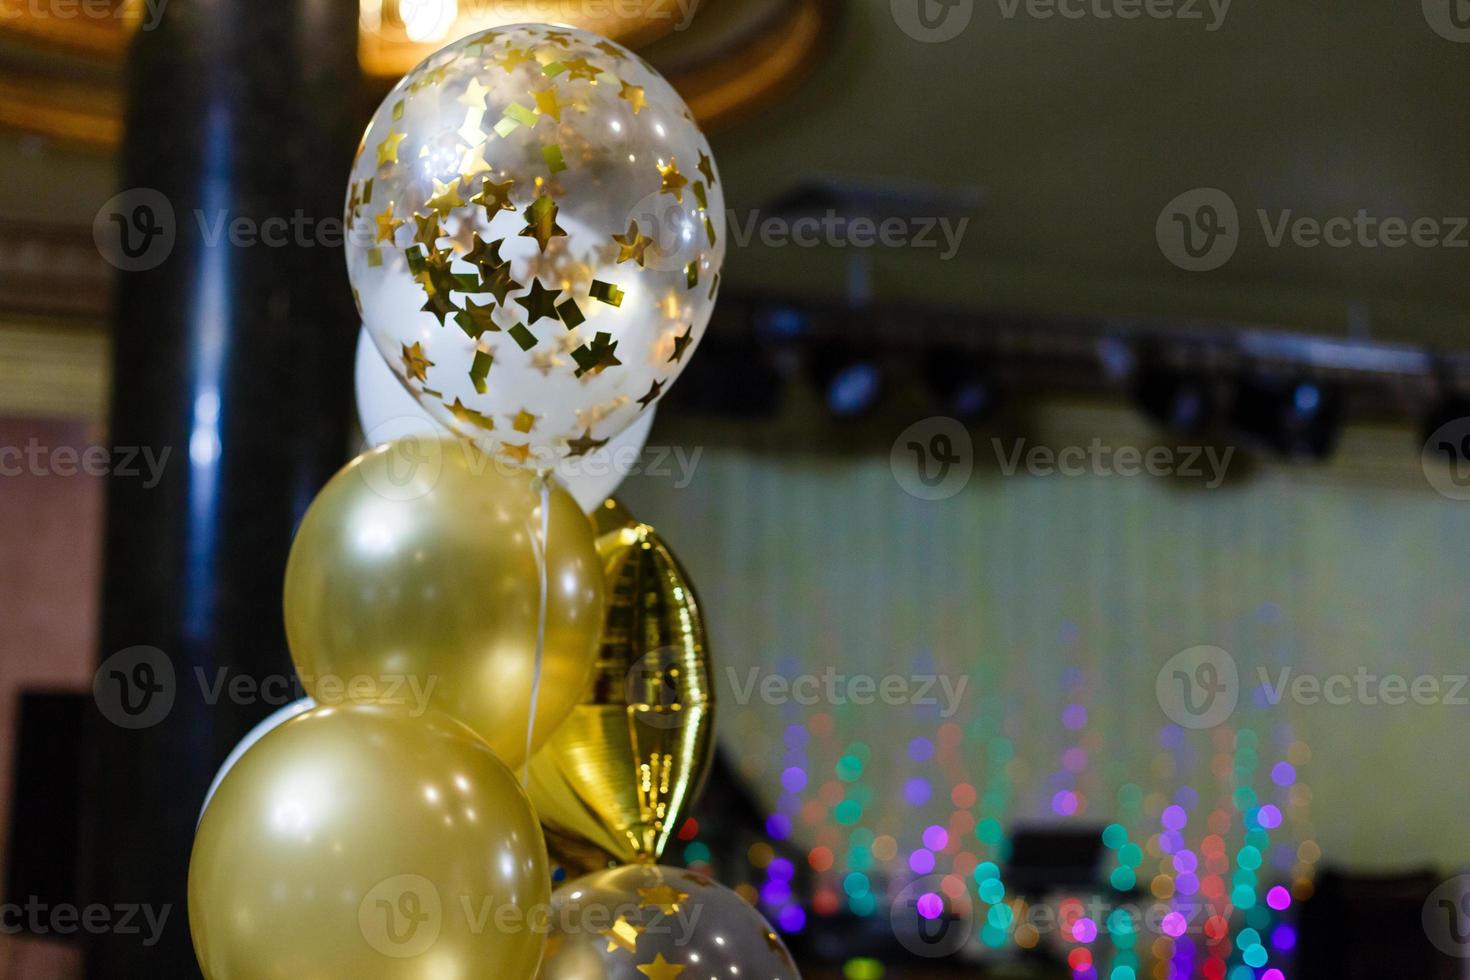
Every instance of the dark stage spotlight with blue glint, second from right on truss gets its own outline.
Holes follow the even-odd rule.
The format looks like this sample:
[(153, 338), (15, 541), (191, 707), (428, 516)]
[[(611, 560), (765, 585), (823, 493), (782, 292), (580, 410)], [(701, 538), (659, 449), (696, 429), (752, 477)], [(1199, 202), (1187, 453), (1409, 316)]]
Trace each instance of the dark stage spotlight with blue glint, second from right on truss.
[(1244, 376), (1235, 389), (1230, 420), (1294, 460), (1324, 460), (1341, 435), (1342, 392), (1307, 378)]

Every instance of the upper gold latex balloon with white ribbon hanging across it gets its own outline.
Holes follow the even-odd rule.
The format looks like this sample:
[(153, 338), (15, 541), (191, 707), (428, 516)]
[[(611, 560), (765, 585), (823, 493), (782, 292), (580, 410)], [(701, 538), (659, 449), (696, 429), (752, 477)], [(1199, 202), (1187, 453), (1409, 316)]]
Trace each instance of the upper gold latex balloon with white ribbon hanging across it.
[[(306, 511), (285, 574), (297, 673), (318, 704), (444, 711), (507, 765), (526, 757), (542, 485), (467, 442), (357, 457)], [(547, 494), (539, 745), (578, 702), (603, 629), (603, 564), (570, 494)]]

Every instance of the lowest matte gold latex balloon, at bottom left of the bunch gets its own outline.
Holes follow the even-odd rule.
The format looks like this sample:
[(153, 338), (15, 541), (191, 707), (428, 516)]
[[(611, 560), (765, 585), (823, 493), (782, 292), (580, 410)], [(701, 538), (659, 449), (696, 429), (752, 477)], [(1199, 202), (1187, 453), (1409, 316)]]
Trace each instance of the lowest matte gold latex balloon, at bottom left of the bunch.
[(229, 770), (194, 837), (207, 980), (529, 980), (545, 845), (516, 777), (441, 714), (315, 708)]

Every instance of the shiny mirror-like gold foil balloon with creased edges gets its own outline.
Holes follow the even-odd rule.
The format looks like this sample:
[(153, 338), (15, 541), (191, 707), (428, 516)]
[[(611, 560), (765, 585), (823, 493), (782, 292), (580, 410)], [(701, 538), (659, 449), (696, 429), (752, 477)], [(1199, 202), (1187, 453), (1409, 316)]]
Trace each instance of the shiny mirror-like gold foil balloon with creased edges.
[(709, 645), (688, 574), (648, 525), (612, 530), (597, 548), (607, 563), (603, 651), (528, 780), (553, 857), (572, 871), (657, 861), (714, 752)]

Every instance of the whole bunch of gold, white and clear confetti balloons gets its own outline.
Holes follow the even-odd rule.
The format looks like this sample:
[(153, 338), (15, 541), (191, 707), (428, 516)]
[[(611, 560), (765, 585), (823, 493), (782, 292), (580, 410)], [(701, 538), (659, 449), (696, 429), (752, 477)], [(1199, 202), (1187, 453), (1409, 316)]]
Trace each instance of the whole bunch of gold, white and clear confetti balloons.
[(597, 35), (476, 34), (384, 100), (347, 198), (369, 448), (285, 572), (310, 696), (204, 802), (209, 980), (798, 977), (657, 864), (711, 760), (709, 648), (607, 500), (709, 325), (723, 215), (689, 110)]

